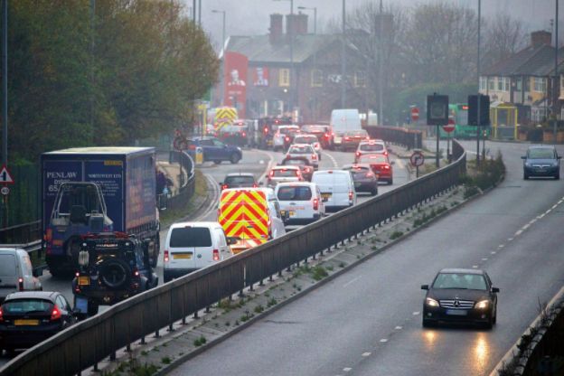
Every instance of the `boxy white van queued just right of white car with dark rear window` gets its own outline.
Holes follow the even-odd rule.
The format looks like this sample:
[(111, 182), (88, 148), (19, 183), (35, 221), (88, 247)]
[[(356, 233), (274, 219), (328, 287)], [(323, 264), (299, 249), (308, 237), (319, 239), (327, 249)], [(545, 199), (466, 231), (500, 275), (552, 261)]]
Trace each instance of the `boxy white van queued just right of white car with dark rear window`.
[(325, 210), (341, 210), (356, 205), (353, 175), (349, 171), (315, 171), (312, 183), (319, 186), (321, 197), (326, 200)]

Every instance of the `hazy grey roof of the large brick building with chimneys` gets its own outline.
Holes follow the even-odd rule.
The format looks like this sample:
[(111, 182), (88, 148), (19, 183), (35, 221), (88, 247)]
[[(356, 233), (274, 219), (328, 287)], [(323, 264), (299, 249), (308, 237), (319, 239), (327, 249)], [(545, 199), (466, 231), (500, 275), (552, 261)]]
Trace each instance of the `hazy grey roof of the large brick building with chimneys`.
[[(240, 52), (249, 62), (290, 62), (290, 43), (286, 41), (271, 43), (267, 35), (230, 36), (227, 51)], [(300, 34), (294, 39), (294, 62), (306, 61), (314, 52), (324, 49), (338, 39), (333, 34)]]

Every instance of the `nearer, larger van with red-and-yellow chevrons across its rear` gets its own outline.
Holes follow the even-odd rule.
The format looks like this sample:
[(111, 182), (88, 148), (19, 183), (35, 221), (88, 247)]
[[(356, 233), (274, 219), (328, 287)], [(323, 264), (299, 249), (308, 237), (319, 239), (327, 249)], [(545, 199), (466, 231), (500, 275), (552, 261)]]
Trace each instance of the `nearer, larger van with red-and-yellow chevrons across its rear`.
[(237, 254), (286, 233), (280, 204), (270, 188), (230, 188), (221, 191), (218, 221), (228, 237), (237, 238)]

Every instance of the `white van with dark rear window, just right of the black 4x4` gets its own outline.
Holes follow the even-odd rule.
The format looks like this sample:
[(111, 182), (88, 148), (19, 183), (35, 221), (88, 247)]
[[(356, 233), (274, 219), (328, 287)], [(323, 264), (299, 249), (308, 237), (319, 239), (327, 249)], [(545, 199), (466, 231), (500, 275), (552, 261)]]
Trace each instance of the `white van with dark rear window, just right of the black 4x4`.
[(220, 262), (229, 251), (218, 222), (174, 223), (164, 243), (164, 282)]

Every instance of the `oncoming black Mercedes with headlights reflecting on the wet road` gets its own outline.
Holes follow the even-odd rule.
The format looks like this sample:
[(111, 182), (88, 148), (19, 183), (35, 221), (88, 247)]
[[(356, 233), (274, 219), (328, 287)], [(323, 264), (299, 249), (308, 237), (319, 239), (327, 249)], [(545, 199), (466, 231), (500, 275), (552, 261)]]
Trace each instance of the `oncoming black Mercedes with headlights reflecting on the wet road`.
[(437, 273), (423, 302), (423, 326), (438, 322), (483, 324), (490, 329), (497, 318), (497, 293), (484, 270), (446, 268)]

